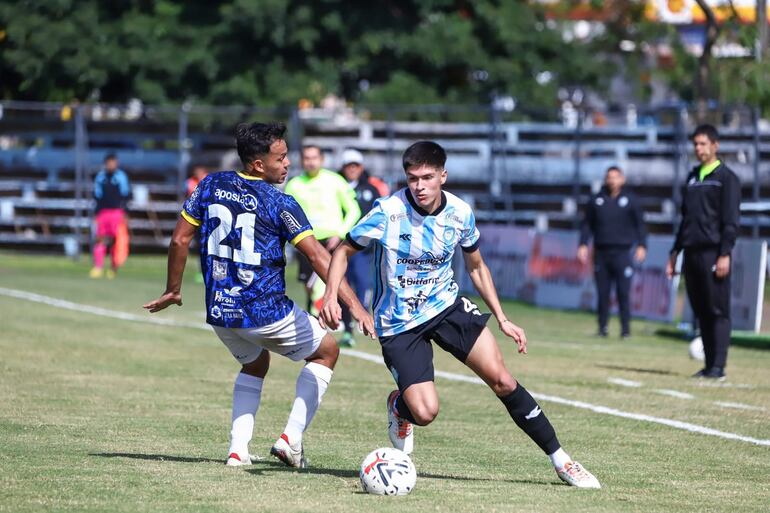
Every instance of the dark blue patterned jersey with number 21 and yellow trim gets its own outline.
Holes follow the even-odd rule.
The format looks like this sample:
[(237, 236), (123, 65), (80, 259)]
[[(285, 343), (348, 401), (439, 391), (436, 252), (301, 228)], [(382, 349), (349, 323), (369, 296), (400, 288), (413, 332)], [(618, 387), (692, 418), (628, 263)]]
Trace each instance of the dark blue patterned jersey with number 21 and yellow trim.
[(182, 216), (200, 226), (206, 322), (257, 328), (279, 321), (294, 304), (286, 297), (284, 245), (313, 228), (294, 198), (235, 171), (201, 180)]

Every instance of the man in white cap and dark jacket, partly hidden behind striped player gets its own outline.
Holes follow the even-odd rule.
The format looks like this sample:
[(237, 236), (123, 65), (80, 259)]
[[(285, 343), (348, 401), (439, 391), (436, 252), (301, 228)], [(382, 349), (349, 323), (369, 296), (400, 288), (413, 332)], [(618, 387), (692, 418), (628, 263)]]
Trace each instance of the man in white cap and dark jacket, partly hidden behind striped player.
[[(383, 194), (372, 183), (372, 177), (364, 168), (364, 156), (358, 150), (347, 149), (342, 153), (341, 173), (356, 193), (356, 201), (358, 201), (362, 216), (365, 216), (372, 209), (378, 198), (388, 195), (387, 186), (385, 186), (386, 192)], [(351, 256), (345, 274), (350, 286), (355, 290), (358, 300), (365, 308), (369, 308), (372, 302), (372, 255), (372, 249), (366, 248)]]

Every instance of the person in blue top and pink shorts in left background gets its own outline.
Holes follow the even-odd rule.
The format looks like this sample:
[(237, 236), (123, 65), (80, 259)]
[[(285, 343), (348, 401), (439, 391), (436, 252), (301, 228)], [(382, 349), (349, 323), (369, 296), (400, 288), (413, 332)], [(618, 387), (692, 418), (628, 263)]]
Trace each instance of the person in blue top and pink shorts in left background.
[(91, 278), (104, 276), (104, 258), (110, 248), (111, 267), (107, 278), (112, 279), (128, 256), (128, 226), (126, 207), (131, 197), (128, 175), (120, 169), (118, 157), (108, 153), (104, 165), (94, 178), (94, 199), (96, 200), (94, 244), (94, 266)]

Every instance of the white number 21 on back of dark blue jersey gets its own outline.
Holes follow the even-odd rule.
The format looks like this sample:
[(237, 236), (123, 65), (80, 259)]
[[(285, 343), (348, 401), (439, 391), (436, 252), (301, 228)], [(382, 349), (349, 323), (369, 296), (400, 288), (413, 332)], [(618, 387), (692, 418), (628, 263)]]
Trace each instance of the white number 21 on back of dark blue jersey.
[(262, 255), (254, 252), (256, 214), (243, 212), (235, 218), (235, 228), (241, 229), (241, 249), (233, 249), (221, 243), (233, 229), (233, 214), (230, 209), (219, 203), (212, 203), (209, 205), (208, 214), (210, 218), (219, 219), (219, 226), (209, 235), (207, 245), (209, 255), (227, 258), (241, 264), (259, 265), (261, 263)]

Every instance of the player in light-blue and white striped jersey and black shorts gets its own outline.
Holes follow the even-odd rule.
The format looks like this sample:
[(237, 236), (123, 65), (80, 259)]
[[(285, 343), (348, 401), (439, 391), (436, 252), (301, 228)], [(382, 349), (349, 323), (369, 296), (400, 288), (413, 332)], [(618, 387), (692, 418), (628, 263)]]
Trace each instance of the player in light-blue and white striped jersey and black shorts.
[(550, 457), (563, 481), (599, 488), (599, 481), (562, 449), (545, 413), (508, 372), (486, 327), (490, 315), (458, 296), (452, 257), (460, 246), (471, 281), (500, 331), (516, 342), (519, 353), (527, 352), (524, 330), (506, 317), (481, 257), (473, 211), (441, 190), (447, 178), (445, 163), (446, 152), (434, 142), (420, 141), (404, 152), (407, 187), (378, 200), (334, 251), (321, 318), (332, 327), (339, 322), (338, 285), (348, 259), (374, 245), (374, 324), (385, 364), (398, 385), (387, 400), (393, 446), (411, 453), (412, 425), (426, 426), (438, 414), (433, 382), (432, 344), (436, 344), (489, 385), (516, 425)]

